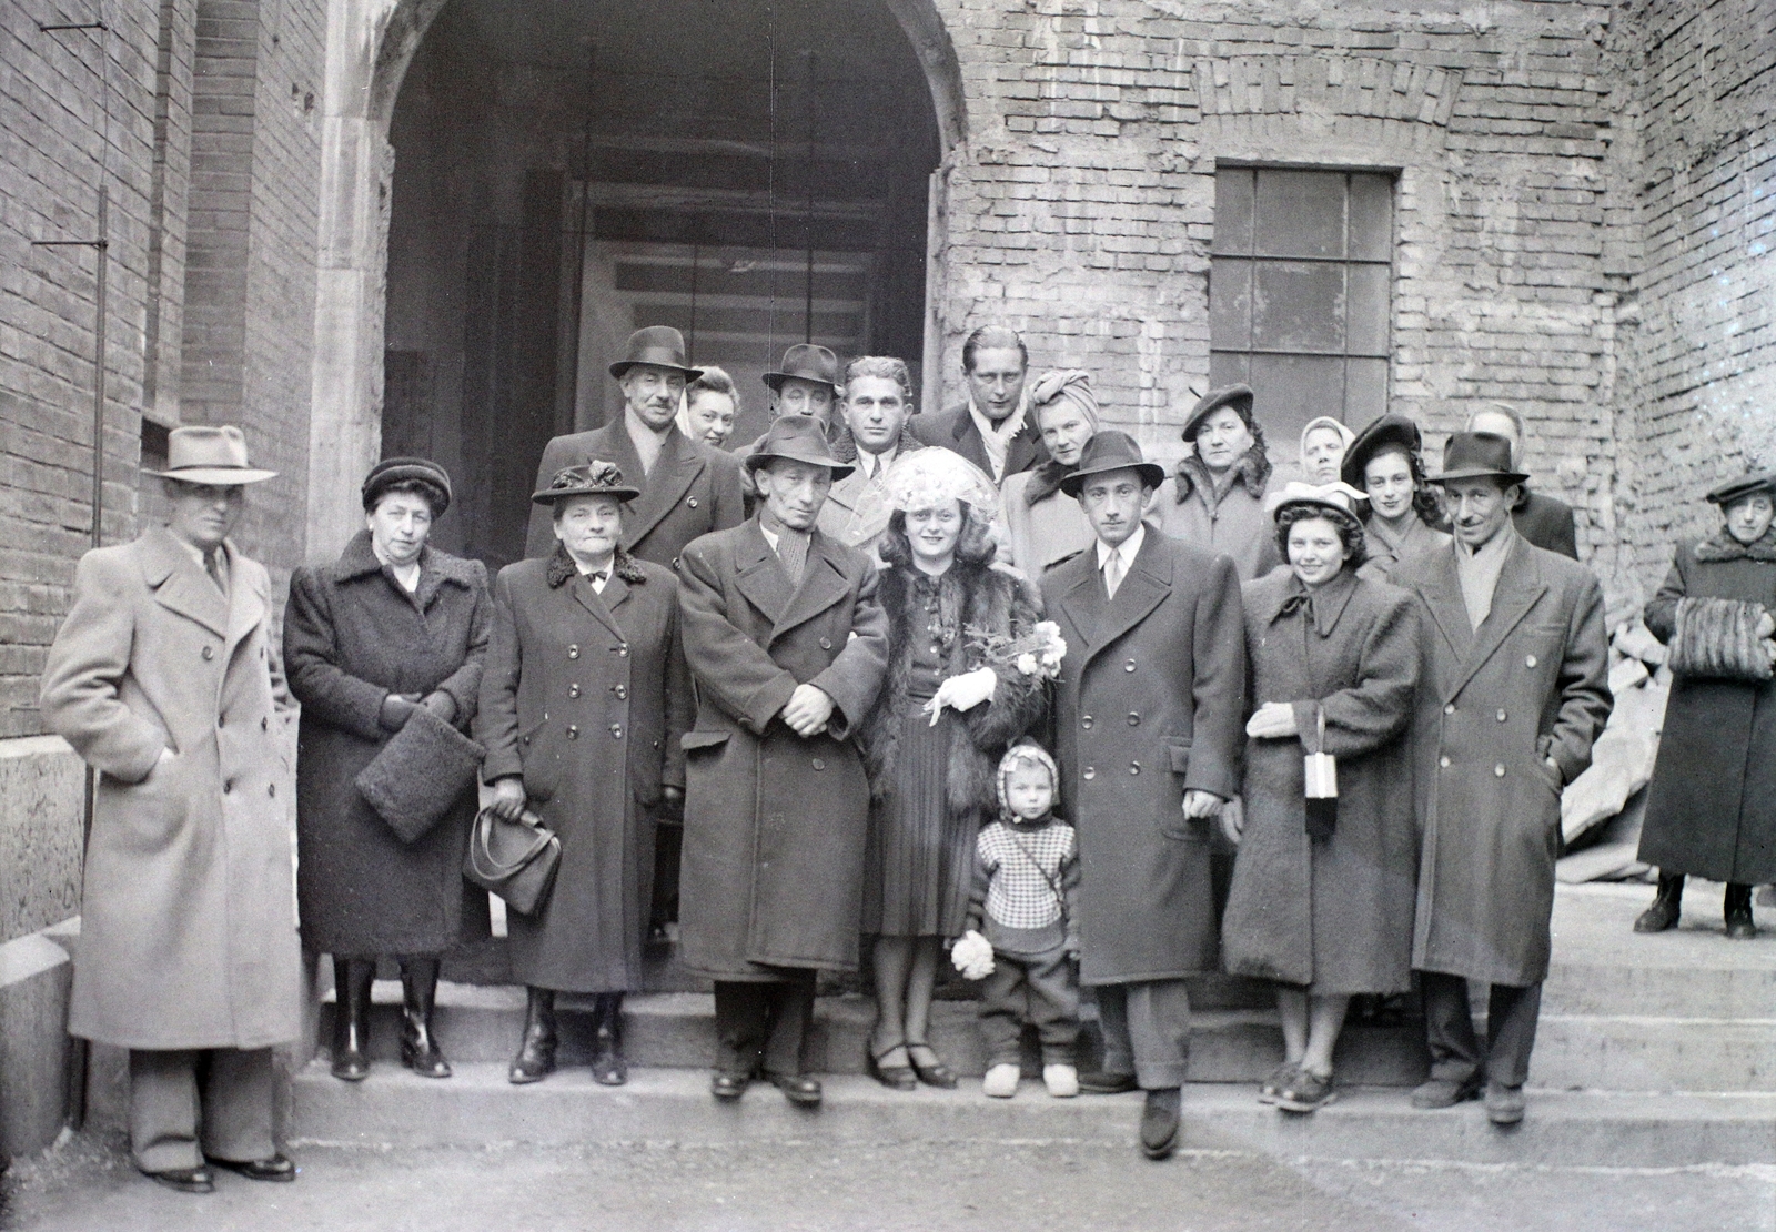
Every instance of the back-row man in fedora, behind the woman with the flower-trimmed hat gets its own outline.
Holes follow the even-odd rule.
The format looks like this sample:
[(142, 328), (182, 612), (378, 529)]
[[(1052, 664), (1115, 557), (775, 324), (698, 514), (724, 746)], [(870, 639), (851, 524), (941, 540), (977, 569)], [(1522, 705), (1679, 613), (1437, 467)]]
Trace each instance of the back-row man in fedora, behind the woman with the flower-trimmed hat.
[[(591, 458), (614, 462), (641, 488), (623, 506), (623, 550), (638, 561), (678, 568), (686, 543), (739, 525), (744, 517), (741, 463), (678, 430), (684, 387), (702, 375), (686, 362), (684, 337), (670, 325), (630, 334), (627, 353), (611, 364), (611, 376), (623, 387), (623, 417), (551, 440), (536, 467), (536, 486), (547, 488), (556, 474)], [(549, 509), (535, 506), (524, 554), (549, 556), (554, 545)]]

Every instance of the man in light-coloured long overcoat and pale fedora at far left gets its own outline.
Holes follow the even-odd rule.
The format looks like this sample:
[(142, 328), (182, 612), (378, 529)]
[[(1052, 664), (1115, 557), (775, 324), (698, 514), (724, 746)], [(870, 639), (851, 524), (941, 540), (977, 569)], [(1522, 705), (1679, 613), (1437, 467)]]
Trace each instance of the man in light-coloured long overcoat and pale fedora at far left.
[(98, 770), (71, 1035), (130, 1049), (130, 1154), (210, 1193), (208, 1165), (295, 1181), (272, 1141), (272, 1049), (302, 957), (272, 582), (229, 533), (238, 428), (174, 428), (167, 520), (87, 552), (43, 671), (43, 719)]

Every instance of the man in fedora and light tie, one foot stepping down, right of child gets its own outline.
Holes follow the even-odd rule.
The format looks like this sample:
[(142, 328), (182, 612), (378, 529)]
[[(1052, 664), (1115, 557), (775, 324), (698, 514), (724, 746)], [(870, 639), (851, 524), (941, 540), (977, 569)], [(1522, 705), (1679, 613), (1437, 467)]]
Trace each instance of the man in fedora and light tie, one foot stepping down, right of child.
[(1165, 470), (1099, 431), (1060, 481), (1096, 541), (1043, 573), (1067, 643), (1055, 696), (1062, 809), (1080, 841), (1080, 982), (1098, 992), (1103, 1072), (1147, 1092), (1140, 1147), (1177, 1145), (1186, 976), (1217, 969), (1209, 827), (1240, 790), (1245, 616), (1233, 561), (1142, 524)]

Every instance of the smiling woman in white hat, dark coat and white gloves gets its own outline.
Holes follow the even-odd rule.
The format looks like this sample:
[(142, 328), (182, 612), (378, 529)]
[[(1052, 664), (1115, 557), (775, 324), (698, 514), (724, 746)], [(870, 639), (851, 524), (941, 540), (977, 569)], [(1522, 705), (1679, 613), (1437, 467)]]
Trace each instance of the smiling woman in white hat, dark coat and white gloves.
[[(1286, 1056), (1261, 1099), (1314, 1111), (1332, 1099), (1352, 994), (1410, 987), (1417, 614), (1405, 591), (1357, 575), (1355, 488), (1291, 483), (1277, 497), (1289, 568), (1243, 588), (1254, 712), (1222, 953), (1231, 973), (1277, 985)], [(1337, 760), (1336, 817), (1309, 811), (1307, 753)]]

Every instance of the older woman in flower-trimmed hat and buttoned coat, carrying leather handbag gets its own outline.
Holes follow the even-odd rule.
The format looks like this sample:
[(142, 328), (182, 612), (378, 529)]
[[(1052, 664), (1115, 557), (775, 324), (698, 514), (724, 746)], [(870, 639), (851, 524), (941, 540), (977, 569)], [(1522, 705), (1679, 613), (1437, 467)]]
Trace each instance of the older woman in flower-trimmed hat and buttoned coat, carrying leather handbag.
[(554, 889), (511, 912), (511, 973), (527, 987), (513, 1083), (554, 1070), (558, 991), (593, 992), (591, 1076), (620, 1086), (623, 992), (641, 980), (654, 827), (684, 806), (691, 678), (678, 579), (620, 547), (636, 488), (609, 462), (559, 470), (531, 497), (554, 506), (556, 550), (494, 579), (494, 637), (476, 737), (490, 808), (535, 808), (561, 840)]

